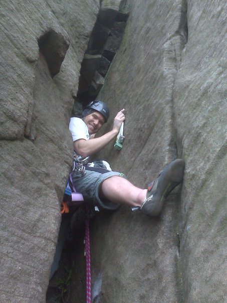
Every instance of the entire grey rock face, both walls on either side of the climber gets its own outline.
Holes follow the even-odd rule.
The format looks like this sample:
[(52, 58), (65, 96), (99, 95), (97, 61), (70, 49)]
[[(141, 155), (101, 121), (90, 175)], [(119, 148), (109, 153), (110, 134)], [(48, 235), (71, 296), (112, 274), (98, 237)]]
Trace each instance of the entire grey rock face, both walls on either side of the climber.
[[(93, 220), (93, 302), (227, 300), (226, 9), (224, 0), (101, 2), (104, 34), (110, 20), (112, 36), (123, 33), (129, 18), (98, 96), (110, 120), (126, 109), (126, 138), (99, 158), (139, 187), (172, 159), (186, 168), (159, 218), (121, 207)], [(98, 0), (1, 5), (4, 303), (45, 301), (71, 164), (68, 122), (98, 11)], [(70, 302), (78, 303), (85, 266), (77, 250)]]

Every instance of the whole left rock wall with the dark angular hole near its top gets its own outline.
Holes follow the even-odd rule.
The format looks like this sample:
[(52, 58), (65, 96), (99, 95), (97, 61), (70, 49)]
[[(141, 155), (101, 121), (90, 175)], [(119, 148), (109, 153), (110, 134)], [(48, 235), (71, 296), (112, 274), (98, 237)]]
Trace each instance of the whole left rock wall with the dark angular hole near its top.
[(44, 302), (99, 1), (2, 1), (0, 10), (0, 301)]

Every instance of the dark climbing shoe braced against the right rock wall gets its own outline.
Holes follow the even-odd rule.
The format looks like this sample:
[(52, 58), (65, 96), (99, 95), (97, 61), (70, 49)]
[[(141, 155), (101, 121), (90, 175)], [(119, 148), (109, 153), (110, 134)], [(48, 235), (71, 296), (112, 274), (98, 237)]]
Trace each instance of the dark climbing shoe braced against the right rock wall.
[(184, 161), (176, 159), (169, 163), (158, 178), (148, 185), (147, 196), (140, 210), (147, 216), (160, 214), (168, 194), (183, 180)]

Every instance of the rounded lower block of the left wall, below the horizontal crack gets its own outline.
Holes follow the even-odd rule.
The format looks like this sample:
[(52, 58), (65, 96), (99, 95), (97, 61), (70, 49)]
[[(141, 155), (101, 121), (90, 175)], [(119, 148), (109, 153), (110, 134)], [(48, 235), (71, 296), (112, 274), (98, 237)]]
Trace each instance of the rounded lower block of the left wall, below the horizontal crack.
[(40, 150), (1, 140), (1, 302), (44, 302), (59, 204)]

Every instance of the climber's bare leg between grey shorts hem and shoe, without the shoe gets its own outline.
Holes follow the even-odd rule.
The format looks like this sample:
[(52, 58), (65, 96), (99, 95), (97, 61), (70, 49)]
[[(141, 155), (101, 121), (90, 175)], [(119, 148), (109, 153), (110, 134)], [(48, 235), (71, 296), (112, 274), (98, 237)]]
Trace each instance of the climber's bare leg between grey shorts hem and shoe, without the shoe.
[(146, 189), (140, 189), (128, 180), (113, 176), (103, 181), (100, 190), (100, 198), (104, 197), (112, 202), (128, 206), (141, 206), (146, 198)]

